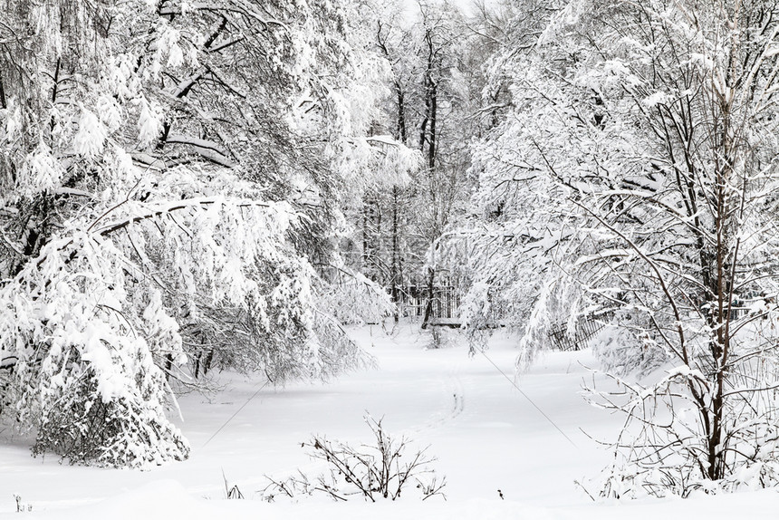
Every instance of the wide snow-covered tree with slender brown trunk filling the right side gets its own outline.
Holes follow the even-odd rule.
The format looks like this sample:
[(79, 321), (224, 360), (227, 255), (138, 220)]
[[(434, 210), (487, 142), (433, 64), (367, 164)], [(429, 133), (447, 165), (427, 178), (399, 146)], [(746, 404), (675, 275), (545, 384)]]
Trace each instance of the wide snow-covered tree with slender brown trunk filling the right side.
[(514, 106), (476, 151), (472, 307), (526, 324), (523, 360), (551, 321), (611, 309), (612, 368), (669, 363), (609, 401), (627, 422), (603, 495), (777, 482), (777, 14), (575, 1), (508, 62)]

